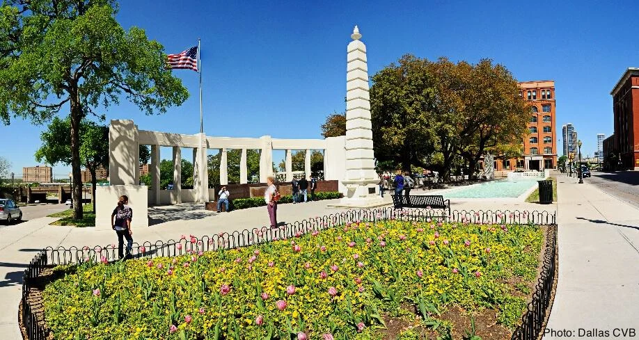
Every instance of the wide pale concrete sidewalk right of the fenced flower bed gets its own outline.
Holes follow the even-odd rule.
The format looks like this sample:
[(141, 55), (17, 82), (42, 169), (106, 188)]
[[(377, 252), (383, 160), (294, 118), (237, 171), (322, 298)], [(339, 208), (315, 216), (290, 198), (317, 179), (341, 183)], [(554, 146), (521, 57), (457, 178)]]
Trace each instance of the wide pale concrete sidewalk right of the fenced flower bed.
[(639, 332), (639, 210), (577, 181), (558, 177), (559, 279), (544, 339), (636, 339), (622, 330)]

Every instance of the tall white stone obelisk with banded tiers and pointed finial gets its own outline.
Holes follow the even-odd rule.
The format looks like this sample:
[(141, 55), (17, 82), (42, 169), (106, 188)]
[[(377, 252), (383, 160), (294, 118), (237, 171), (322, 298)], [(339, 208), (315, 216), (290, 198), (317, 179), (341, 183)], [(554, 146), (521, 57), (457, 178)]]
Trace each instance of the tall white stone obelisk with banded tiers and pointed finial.
[(370, 102), (368, 96), (368, 66), (366, 46), (355, 26), (348, 44), (346, 74), (346, 174), (342, 184), (347, 187), (340, 207), (369, 208), (384, 205), (379, 197), (379, 177), (373, 156)]

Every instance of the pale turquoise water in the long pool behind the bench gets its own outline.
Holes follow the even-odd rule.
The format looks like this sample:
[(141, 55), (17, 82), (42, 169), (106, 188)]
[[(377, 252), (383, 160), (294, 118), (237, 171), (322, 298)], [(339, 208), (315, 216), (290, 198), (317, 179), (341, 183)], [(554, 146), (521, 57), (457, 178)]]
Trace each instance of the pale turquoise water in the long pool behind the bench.
[(507, 179), (503, 179), (455, 189), (442, 193), (442, 195), (444, 198), (519, 197), (519, 195), (526, 193), (532, 186), (537, 186), (536, 180), (508, 181)]

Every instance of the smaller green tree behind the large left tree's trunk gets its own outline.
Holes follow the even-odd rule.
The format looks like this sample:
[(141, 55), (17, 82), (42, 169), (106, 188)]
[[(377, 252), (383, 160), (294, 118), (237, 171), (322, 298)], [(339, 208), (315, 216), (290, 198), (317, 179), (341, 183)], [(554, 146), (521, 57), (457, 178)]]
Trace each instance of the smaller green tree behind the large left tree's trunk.
[[(62, 163), (70, 165), (71, 157), (71, 136), (69, 127), (70, 118), (54, 118), (48, 125), (47, 130), (40, 134), (42, 146), (36, 150), (36, 161), (55, 165)], [(96, 170), (98, 168), (109, 169), (109, 127), (84, 119), (80, 122), (80, 165), (84, 166), (91, 174), (91, 197), (95, 197), (95, 186), (97, 185)], [(150, 149), (146, 145), (140, 145), (140, 163), (147, 163), (150, 159)], [(95, 213), (95, 204), (93, 205)]]

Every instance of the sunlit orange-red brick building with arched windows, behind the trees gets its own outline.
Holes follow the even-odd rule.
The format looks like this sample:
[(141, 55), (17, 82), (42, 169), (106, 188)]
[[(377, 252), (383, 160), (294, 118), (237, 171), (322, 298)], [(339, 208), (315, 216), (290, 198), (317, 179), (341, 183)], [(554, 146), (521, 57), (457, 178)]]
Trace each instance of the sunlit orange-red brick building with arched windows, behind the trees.
[(520, 145), (523, 158), (495, 161), (495, 170), (544, 170), (557, 167), (555, 81), (523, 81), (519, 95), (530, 102), (528, 133)]

